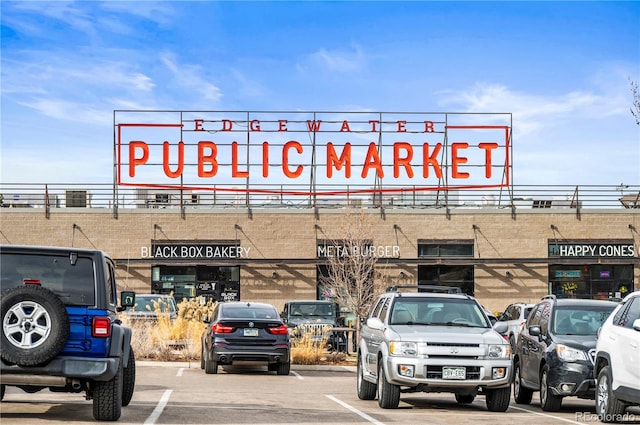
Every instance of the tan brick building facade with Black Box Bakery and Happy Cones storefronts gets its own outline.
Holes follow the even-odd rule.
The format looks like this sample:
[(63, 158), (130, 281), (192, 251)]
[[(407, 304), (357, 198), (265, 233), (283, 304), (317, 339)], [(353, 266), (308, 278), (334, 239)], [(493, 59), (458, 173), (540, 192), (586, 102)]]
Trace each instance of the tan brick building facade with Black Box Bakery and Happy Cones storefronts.
[[(7, 206), (5, 204), (5, 206)], [(323, 298), (327, 257), (365, 222), (382, 285), (462, 287), (485, 307), (640, 289), (640, 209), (0, 208), (4, 244), (98, 248), (120, 289), (220, 300)], [(345, 227), (347, 226), (347, 227)]]

